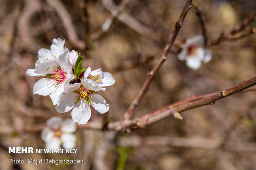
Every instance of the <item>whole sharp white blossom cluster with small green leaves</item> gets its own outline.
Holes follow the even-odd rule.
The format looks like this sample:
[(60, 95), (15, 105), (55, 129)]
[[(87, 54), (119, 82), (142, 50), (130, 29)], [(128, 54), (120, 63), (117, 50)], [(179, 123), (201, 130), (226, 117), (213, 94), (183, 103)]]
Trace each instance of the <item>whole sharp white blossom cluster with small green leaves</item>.
[(35, 69), (28, 69), (26, 74), (44, 76), (34, 85), (33, 93), (49, 95), (59, 113), (73, 109), (73, 121), (84, 124), (90, 119), (90, 105), (102, 114), (109, 110), (104, 98), (95, 92), (105, 91), (104, 87), (114, 84), (115, 79), (101, 69), (82, 68), (84, 57), (69, 51), (64, 43), (53, 39), (50, 50), (40, 49)]

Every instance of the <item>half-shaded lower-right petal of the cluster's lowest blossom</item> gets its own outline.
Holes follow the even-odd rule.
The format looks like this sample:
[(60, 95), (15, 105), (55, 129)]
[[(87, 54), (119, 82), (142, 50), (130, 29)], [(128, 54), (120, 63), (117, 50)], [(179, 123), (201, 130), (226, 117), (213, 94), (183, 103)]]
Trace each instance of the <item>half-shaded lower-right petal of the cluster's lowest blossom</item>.
[(106, 100), (99, 94), (91, 94), (93, 98), (92, 100), (92, 107), (95, 108), (100, 113), (106, 113), (109, 110), (109, 104), (106, 104)]

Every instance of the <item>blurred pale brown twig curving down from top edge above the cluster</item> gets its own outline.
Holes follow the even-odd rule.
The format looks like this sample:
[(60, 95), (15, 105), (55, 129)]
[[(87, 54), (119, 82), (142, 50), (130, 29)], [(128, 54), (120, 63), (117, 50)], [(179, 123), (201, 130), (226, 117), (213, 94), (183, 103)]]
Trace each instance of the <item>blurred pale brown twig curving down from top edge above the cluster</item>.
[(85, 49), (85, 43), (78, 39), (78, 36), (76, 34), (76, 30), (73, 26), (72, 19), (59, 0), (46, 0), (47, 3), (52, 6), (53, 9), (57, 12), (60, 19), (63, 22), (64, 27), (66, 28), (67, 37), (69, 38), (70, 42), (77, 48), (84, 50)]

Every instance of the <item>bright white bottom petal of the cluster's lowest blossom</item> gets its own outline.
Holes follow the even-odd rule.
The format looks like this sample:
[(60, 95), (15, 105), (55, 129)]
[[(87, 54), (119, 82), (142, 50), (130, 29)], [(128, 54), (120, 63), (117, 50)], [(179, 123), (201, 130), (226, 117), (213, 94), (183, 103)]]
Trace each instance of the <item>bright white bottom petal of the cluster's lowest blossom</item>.
[(91, 117), (91, 109), (88, 104), (83, 103), (81, 105), (82, 100), (76, 103), (75, 107), (71, 112), (71, 116), (74, 122), (80, 124), (85, 124)]

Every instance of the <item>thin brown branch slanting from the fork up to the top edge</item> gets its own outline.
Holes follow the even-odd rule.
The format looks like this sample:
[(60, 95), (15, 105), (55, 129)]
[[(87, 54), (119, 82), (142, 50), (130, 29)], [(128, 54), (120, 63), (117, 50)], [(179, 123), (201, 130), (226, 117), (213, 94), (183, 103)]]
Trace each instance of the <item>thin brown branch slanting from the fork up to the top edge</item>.
[(185, 16), (187, 14), (187, 12), (189, 11), (190, 8), (192, 8), (191, 5), (192, 0), (187, 0), (183, 11), (180, 14), (180, 18), (178, 19), (177, 23), (175, 24), (174, 30), (171, 33), (168, 43), (166, 44), (166, 47), (159, 59), (159, 61), (156, 63), (156, 65), (154, 66), (153, 70), (151, 70), (147, 76), (147, 79), (145, 81), (145, 83), (143, 84), (142, 88), (140, 89), (140, 92), (138, 93), (138, 95), (136, 96), (136, 98), (133, 100), (133, 102), (131, 103), (130, 107), (128, 108), (128, 110), (126, 111), (126, 113), (124, 114), (124, 121), (127, 121), (128, 119), (130, 119), (134, 109), (137, 107), (137, 105), (139, 104), (140, 100), (143, 98), (143, 96), (146, 94), (149, 84), (152, 82), (154, 76), (156, 75), (156, 73), (159, 71), (159, 69), (161, 68), (161, 66), (164, 64), (164, 62), (167, 60), (167, 55), (168, 52), (170, 51), (174, 40), (176, 38), (176, 36), (179, 33), (179, 30), (183, 24), (183, 21), (185, 19)]

